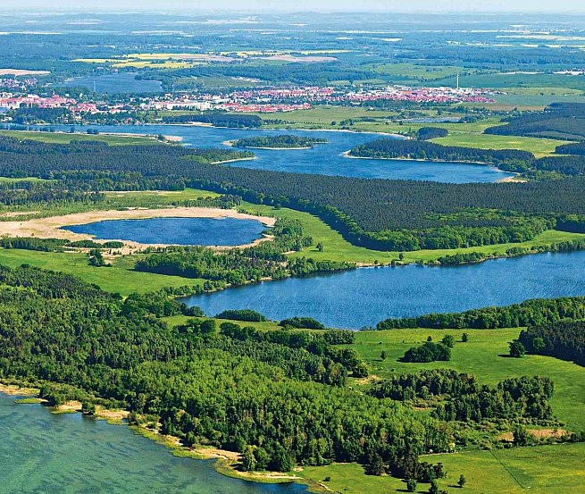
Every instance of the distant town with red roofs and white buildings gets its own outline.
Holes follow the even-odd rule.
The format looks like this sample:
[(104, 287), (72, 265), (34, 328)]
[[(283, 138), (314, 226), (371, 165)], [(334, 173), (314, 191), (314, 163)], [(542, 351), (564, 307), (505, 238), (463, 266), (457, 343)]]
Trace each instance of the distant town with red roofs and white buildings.
[[(61, 109), (71, 113), (73, 120), (81, 120), (84, 115), (98, 113), (127, 113), (136, 111), (219, 111), (227, 113), (287, 113), (308, 110), (314, 104), (363, 104), (367, 102), (390, 100), (414, 103), (457, 104), (457, 103), (496, 103), (497, 93), (477, 88), (410, 88), (389, 86), (382, 89), (361, 88), (347, 90), (330, 87), (262, 88), (237, 90), (224, 94), (187, 93), (180, 96), (164, 94), (161, 96), (128, 97), (127, 101), (111, 102), (94, 100), (90, 95), (82, 96), (82, 101), (68, 94), (63, 96), (38, 96), (28, 94), (29, 88), (37, 87), (37, 80), (0, 80), (0, 88), (12, 91), (0, 93), (0, 112), (7, 113), (21, 108)], [(16, 91), (14, 91), (16, 89)], [(62, 91), (63, 94), (63, 91)], [(10, 121), (10, 116), (4, 121)]]

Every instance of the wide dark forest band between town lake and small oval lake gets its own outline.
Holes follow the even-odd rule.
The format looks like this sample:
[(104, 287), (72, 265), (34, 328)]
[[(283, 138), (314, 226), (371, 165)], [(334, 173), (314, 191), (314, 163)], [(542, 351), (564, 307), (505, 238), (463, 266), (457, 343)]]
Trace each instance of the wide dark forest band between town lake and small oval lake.
[(380, 250), (522, 242), (555, 228), (559, 217), (585, 214), (585, 177), (525, 184), (446, 184), (213, 164), (249, 155), (188, 147), (64, 146), (0, 139), (0, 175), (58, 180), (55, 189), (64, 189), (64, 182), (63, 193), (82, 194), (84, 200), (93, 197), (91, 191), (104, 188), (205, 188), (256, 204), (316, 214), (355, 245)]

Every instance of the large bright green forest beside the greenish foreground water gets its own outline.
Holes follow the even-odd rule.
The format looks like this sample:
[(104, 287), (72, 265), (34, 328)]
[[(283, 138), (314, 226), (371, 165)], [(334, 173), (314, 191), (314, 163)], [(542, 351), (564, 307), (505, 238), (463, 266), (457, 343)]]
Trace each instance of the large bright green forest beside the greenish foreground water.
[[(182, 308), (164, 297), (122, 301), (29, 267), (0, 267), (0, 284), (0, 377), (45, 382), (52, 403), (127, 407), (131, 420), (160, 421), (187, 445), (247, 452), (249, 469), (394, 465), (450, 441), (438, 419), (344, 387), (347, 369), (327, 356), (324, 336), (272, 342), (236, 337), (233, 326), (171, 328), (155, 314)], [(305, 349), (313, 342), (314, 353)]]

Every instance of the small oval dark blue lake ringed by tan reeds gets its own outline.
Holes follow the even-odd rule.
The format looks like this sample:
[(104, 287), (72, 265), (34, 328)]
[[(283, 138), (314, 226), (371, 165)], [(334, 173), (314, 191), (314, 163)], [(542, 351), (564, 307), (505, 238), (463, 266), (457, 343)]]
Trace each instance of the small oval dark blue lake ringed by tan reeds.
[(256, 220), (236, 218), (149, 218), (106, 220), (64, 226), (63, 230), (100, 240), (131, 240), (141, 244), (239, 246), (261, 239), (266, 226)]

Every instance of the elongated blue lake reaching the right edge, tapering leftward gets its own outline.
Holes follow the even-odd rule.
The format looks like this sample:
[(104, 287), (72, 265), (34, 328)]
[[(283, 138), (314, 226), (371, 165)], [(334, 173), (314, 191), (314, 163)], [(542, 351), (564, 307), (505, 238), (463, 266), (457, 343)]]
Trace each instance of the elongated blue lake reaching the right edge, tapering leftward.
[(585, 252), (525, 255), (454, 267), (418, 265), (265, 281), (188, 297), (205, 314), (254, 309), (271, 319), (311, 316), (358, 329), (388, 317), (507, 306), (529, 298), (585, 295)]

